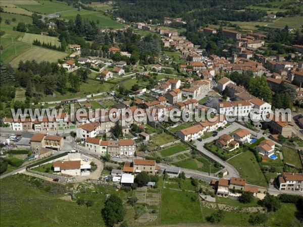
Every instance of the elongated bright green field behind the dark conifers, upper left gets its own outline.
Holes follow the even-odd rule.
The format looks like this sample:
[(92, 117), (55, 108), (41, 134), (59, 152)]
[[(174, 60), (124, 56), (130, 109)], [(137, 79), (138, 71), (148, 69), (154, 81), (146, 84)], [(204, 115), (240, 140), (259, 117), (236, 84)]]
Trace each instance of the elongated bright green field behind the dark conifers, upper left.
[(81, 11), (71, 11), (60, 14), (63, 19), (70, 20), (75, 19), (77, 14), (80, 14), (82, 19), (89, 19), (91, 21), (99, 21), (99, 25), (101, 28), (123, 28), (123, 24), (120, 24), (117, 21), (112, 20), (111, 18), (105, 16), (102, 12), (96, 11), (88, 11), (88, 10), (81, 10)]

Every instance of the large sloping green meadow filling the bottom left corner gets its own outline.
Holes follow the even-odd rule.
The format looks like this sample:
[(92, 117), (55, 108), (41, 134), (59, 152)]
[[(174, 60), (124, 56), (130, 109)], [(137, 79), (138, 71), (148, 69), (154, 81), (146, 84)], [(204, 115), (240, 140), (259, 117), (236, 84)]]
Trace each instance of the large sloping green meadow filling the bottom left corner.
[[(64, 195), (66, 191), (61, 184), (38, 180), (41, 186), (37, 188), (29, 179), (20, 174), (1, 180), (1, 226), (105, 226), (100, 210), (106, 194), (117, 194), (123, 199), (127, 196), (125, 192), (115, 192), (111, 186), (92, 186), (86, 193), (75, 195), (84, 201), (92, 200), (93, 206), (88, 208)], [(67, 186), (70, 187), (64, 188)]]

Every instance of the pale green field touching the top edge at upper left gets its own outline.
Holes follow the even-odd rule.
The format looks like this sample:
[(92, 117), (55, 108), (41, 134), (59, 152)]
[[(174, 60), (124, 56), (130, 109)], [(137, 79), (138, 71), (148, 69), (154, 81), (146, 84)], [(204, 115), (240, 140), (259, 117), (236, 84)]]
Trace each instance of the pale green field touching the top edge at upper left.
[[(26, 1), (25, 1), (26, 2)], [(25, 4), (23, 1), (17, 1), (15, 5), (19, 6), (20, 8), (26, 9), (31, 12), (39, 13), (39, 14), (52, 14), (52, 13), (58, 13), (61, 11), (67, 11), (67, 10), (76, 10), (72, 6), (68, 6), (66, 4), (62, 4), (55, 1), (33, 1), (34, 4)], [(38, 3), (38, 4), (36, 4)]]

